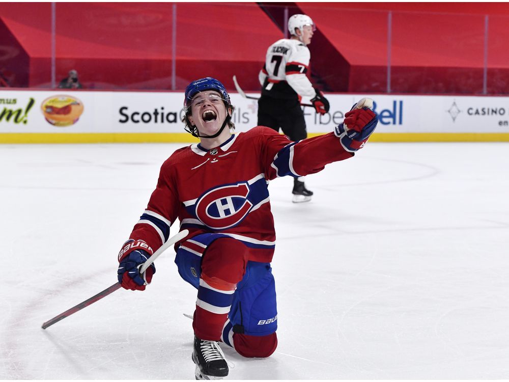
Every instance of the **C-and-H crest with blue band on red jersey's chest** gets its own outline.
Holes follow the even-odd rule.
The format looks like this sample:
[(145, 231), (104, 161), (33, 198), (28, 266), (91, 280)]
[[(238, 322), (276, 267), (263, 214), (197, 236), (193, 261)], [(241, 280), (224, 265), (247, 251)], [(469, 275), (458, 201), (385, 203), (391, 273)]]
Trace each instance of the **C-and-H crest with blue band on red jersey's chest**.
[(214, 187), (184, 204), (204, 225), (222, 230), (241, 223), (254, 206), (267, 202), (268, 197), (267, 183), (260, 175), (249, 181)]

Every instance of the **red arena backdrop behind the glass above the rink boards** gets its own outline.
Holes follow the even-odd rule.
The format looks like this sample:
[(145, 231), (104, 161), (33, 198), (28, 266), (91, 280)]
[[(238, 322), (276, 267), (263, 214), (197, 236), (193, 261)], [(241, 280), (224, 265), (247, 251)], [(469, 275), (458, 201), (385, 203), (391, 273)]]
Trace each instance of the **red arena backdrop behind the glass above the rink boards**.
[[(394, 93), (509, 93), (506, 3), (56, 3), (56, 79), (74, 68), (87, 89), (182, 90), (210, 75), (233, 90), (236, 74), (258, 91), (285, 12), (318, 25), (311, 69), (324, 91), (387, 92), (389, 64)], [(0, 3), (11, 87), (51, 84), (51, 31), (50, 3)]]

